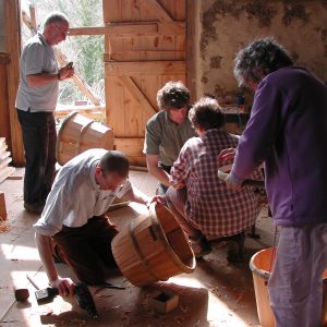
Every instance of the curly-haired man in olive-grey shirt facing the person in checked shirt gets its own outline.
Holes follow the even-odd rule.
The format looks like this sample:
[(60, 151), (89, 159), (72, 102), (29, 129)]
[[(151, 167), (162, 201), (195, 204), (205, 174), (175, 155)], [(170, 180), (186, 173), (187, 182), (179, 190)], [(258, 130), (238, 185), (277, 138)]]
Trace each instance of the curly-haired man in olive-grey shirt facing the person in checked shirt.
[(157, 194), (164, 195), (169, 186), (170, 169), (184, 143), (196, 136), (187, 118), (190, 90), (182, 82), (168, 82), (158, 90), (160, 111), (146, 124), (144, 153), (150, 174), (158, 181)]

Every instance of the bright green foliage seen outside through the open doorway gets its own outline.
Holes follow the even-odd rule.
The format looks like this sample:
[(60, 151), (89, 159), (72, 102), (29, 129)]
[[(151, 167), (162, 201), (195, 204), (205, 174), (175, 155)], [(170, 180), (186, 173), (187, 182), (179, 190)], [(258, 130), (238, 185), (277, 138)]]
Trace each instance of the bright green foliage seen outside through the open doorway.
[[(43, 28), (44, 19), (51, 11), (60, 11), (70, 20), (71, 27), (102, 25), (102, 0), (22, 0), (21, 7), (29, 15), (29, 4), (37, 9), (39, 29)], [(22, 26), (23, 43), (32, 37), (26, 26)], [(86, 82), (95, 96), (105, 102), (104, 85), (104, 36), (69, 36), (57, 47), (73, 61), (75, 72)], [(80, 92), (73, 82), (60, 83), (59, 104), (71, 105), (75, 100), (87, 98)]]

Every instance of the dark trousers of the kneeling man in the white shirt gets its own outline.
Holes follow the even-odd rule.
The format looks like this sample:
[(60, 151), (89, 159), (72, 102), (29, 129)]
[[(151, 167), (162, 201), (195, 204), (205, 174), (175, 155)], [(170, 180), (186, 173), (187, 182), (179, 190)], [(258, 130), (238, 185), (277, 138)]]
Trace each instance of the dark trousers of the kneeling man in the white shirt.
[(52, 237), (55, 259), (66, 263), (81, 281), (101, 284), (106, 281), (106, 268), (116, 268), (111, 241), (118, 230), (102, 217), (93, 217), (77, 227), (63, 227)]

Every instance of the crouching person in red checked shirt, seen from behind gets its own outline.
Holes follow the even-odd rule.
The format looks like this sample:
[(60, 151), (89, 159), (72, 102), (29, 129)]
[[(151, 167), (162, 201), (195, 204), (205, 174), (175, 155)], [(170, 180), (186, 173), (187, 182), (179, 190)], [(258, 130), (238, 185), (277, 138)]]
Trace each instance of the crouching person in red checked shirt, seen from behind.
[(250, 187), (227, 189), (218, 179), (218, 155), (235, 147), (239, 137), (221, 130), (223, 112), (217, 100), (201, 98), (189, 112), (199, 137), (190, 138), (173, 164), (167, 205), (190, 238), (196, 257), (211, 250), (207, 240), (243, 234), (255, 223), (259, 196)]

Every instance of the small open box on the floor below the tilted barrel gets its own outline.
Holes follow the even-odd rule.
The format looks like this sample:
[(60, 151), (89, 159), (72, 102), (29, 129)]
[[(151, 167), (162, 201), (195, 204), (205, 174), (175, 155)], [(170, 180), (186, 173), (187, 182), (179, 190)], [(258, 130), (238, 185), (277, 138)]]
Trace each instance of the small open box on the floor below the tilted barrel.
[(147, 298), (147, 307), (159, 314), (166, 314), (179, 305), (179, 296), (168, 291), (157, 291)]

